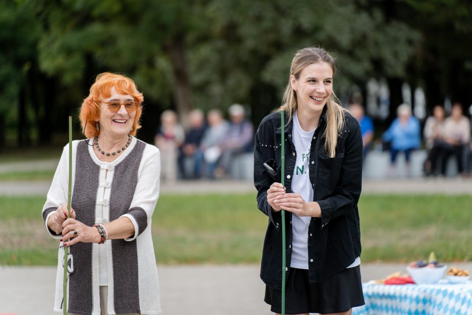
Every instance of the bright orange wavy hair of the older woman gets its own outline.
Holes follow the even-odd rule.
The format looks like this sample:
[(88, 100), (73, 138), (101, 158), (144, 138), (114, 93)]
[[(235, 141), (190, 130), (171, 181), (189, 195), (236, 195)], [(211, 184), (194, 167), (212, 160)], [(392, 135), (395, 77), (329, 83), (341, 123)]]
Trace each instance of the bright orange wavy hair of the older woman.
[(102, 99), (111, 96), (111, 87), (122, 94), (133, 96), (137, 104), (136, 116), (133, 122), (133, 131), (131, 135), (136, 136), (136, 132), (141, 128), (139, 120), (143, 112), (142, 103), (143, 93), (138, 90), (135, 82), (121, 74), (103, 72), (97, 75), (95, 82), (90, 87), (90, 93), (83, 100), (80, 107), (79, 119), (82, 126), (82, 132), (87, 138), (98, 136), (100, 132), (96, 129), (96, 122), (100, 119), (100, 102)]

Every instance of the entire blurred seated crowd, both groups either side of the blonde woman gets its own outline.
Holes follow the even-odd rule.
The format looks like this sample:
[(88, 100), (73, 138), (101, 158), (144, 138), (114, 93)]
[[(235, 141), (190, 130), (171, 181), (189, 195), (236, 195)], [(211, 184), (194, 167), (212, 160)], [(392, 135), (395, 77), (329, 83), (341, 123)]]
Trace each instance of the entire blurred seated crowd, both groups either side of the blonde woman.
[[(401, 104), (396, 119), (379, 139), (375, 139), (374, 122), (365, 114), (362, 105), (351, 103), (348, 109), (361, 125), (365, 162), (369, 163), (366, 157), (376, 148), (389, 153), (387, 177), (398, 175), (397, 158), (401, 154), (404, 155), (405, 175), (410, 176), (411, 154), (422, 148), (427, 151), (422, 164), (424, 176), (446, 176), (451, 158), (456, 161), (458, 175), (472, 175), (471, 124), (463, 114), (461, 103), (452, 104), (449, 116), (442, 106), (435, 106), (424, 127), (412, 114), (411, 106)], [(174, 111), (162, 113), (154, 143), (161, 151), (163, 180), (230, 177), (234, 159), (253, 151), (254, 128), (241, 104), (229, 107), (228, 121), (224, 114), (218, 109), (210, 110), (206, 115), (201, 110), (193, 110), (188, 116), (188, 127), (184, 129)]]

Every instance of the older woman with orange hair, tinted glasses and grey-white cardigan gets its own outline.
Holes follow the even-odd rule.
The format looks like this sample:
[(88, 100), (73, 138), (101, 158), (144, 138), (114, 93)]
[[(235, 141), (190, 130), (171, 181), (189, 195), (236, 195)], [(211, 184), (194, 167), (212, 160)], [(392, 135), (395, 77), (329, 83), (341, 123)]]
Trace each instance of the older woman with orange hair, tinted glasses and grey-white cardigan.
[(72, 142), (71, 217), (66, 220), (68, 145), (43, 207), (47, 231), (61, 241), (55, 311), (62, 311), (68, 246), (69, 313), (161, 313), (151, 237), (160, 153), (134, 137), (143, 99), (130, 78), (102, 73), (82, 103), (89, 139)]

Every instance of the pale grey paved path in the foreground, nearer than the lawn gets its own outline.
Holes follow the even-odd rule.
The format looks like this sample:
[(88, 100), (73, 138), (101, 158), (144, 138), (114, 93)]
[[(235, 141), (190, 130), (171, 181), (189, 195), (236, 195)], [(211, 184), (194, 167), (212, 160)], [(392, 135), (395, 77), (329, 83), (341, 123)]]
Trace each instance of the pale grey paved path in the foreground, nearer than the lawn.
[[(471, 263), (453, 265), (472, 270)], [(364, 282), (396, 271), (406, 273), (405, 265), (361, 265)], [(158, 272), (163, 315), (272, 314), (259, 266), (158, 266)], [(55, 277), (55, 267), (0, 267), (0, 314), (54, 314)]]

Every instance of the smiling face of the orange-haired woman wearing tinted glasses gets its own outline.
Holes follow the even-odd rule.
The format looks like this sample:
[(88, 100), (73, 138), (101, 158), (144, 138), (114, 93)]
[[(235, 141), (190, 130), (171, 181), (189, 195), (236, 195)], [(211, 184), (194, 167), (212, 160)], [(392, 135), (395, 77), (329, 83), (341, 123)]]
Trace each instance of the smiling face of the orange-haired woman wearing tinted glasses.
[(100, 134), (112, 137), (126, 137), (135, 120), (136, 111), (128, 113), (125, 106), (121, 104), (120, 109), (113, 113), (108, 109), (106, 102), (117, 100), (119, 102), (125, 102), (127, 100), (135, 100), (130, 94), (121, 94), (116, 89), (111, 87), (110, 97), (102, 99), (100, 102)]

